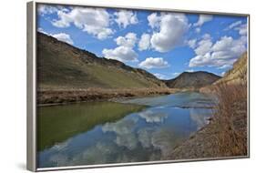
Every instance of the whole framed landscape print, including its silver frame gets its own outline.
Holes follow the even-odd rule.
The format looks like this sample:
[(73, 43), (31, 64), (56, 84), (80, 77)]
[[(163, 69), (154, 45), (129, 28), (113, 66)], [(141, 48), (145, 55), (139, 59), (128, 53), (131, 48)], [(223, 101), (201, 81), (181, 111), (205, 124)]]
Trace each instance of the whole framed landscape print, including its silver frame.
[(249, 17), (27, 3), (27, 168), (249, 158)]

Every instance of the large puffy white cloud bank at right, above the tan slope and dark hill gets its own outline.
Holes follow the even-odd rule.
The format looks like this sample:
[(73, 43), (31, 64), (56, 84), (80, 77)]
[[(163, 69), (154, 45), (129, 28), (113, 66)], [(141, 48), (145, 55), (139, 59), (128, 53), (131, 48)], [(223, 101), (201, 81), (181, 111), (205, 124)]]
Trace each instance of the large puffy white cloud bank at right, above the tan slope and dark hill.
[(196, 56), (189, 61), (189, 67), (216, 66), (227, 68), (246, 51), (244, 36), (234, 39), (231, 36), (222, 36), (212, 43), (209, 37), (204, 37), (195, 48)]

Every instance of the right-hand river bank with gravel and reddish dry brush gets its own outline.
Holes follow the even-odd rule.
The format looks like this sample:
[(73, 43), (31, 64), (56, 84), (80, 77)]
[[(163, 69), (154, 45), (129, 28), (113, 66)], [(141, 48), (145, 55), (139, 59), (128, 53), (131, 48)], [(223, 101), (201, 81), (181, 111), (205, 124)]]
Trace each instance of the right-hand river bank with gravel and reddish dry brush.
[(247, 157), (247, 87), (218, 86), (220, 102), (210, 124), (191, 135), (163, 159)]

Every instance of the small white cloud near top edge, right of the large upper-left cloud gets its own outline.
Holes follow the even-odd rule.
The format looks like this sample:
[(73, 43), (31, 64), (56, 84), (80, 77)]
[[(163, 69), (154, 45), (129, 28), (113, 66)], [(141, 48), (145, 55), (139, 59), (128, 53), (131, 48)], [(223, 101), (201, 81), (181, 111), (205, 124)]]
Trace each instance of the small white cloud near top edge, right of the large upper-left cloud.
[(118, 23), (119, 27), (126, 28), (128, 25), (135, 25), (138, 23), (138, 18), (135, 13), (129, 10), (119, 10), (115, 12), (115, 21)]

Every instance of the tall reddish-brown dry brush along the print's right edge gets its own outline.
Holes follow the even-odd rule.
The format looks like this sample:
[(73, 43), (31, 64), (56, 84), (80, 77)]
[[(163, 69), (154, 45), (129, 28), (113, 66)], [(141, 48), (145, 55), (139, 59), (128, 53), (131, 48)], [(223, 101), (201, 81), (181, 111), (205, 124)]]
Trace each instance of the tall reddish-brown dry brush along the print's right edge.
[(220, 156), (247, 155), (247, 85), (217, 86), (219, 104), (213, 123), (219, 128), (215, 136)]

